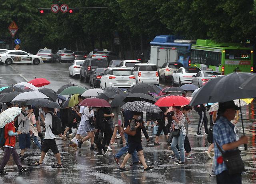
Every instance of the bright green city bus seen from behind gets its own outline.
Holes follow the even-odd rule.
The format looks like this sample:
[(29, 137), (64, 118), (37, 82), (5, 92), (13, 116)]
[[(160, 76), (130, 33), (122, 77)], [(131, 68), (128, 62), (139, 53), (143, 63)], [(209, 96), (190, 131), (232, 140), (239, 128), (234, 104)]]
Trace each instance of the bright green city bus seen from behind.
[(215, 43), (212, 40), (197, 40), (191, 47), (190, 66), (201, 70), (213, 69), (222, 75), (238, 72), (253, 72), (252, 47), (236, 43)]

